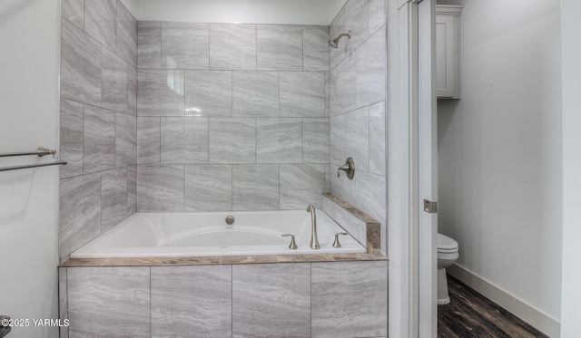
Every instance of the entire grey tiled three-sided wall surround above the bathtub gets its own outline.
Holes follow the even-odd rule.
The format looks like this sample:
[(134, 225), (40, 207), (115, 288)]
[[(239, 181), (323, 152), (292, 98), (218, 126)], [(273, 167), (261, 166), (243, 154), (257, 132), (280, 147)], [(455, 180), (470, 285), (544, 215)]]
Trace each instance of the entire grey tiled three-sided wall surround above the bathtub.
[[(383, 12), (138, 24), (119, 1), (63, 0), (61, 256), (136, 210), (320, 207), (329, 190), (385, 238)], [(337, 179), (349, 156), (355, 179)]]

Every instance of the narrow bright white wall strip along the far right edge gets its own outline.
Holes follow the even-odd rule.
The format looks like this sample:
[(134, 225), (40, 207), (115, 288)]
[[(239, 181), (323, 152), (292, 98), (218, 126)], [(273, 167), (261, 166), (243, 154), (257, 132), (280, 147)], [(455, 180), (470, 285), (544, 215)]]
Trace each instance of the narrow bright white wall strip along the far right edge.
[(561, 336), (581, 336), (581, 2), (561, 0), (563, 52), (563, 286)]

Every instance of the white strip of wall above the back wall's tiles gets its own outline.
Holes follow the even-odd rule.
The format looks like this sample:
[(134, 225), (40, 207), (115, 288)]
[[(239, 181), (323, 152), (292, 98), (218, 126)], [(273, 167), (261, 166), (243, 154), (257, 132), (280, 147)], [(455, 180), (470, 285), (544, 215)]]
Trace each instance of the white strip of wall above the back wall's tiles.
[(346, 0), (123, 0), (138, 21), (322, 24)]

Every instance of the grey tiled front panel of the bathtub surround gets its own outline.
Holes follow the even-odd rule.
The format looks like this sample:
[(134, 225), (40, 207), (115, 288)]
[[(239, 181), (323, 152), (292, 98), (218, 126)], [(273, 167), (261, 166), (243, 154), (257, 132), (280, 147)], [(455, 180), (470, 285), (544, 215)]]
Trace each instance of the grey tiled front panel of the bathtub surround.
[[(388, 262), (61, 267), (62, 337), (385, 337)], [(95, 306), (99, 304), (99, 306)]]

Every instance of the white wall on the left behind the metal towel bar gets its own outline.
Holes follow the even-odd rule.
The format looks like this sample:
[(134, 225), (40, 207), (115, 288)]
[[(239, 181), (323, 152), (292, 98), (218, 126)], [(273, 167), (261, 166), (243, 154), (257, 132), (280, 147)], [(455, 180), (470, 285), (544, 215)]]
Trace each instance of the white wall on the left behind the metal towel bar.
[[(0, 2), (0, 152), (54, 148), (58, 0)], [(0, 167), (52, 159), (1, 159)], [(58, 318), (56, 167), (0, 172), (0, 314)], [(55, 327), (8, 336), (57, 337)]]

